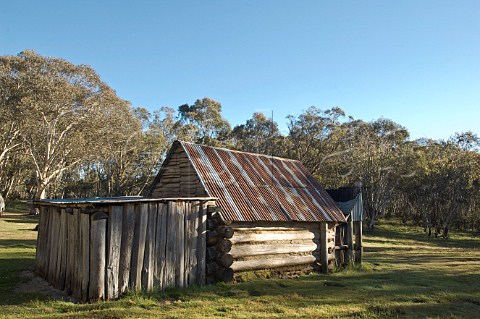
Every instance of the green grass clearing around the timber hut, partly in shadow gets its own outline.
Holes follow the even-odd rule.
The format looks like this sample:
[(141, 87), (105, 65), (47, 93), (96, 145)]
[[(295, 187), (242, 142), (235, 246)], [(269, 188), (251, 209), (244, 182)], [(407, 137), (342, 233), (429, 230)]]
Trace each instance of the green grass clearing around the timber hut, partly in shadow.
[(362, 270), (130, 294), (74, 304), (16, 293), (34, 263), (36, 219), (0, 220), (0, 318), (478, 318), (480, 236), (448, 240), (385, 221), (365, 234)]

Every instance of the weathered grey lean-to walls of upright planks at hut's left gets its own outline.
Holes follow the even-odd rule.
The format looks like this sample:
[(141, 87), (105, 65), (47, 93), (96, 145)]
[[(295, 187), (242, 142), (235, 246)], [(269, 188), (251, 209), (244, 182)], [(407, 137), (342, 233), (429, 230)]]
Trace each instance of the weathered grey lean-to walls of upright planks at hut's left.
[(205, 284), (205, 203), (125, 203), (99, 210), (40, 207), (36, 268), (55, 288), (93, 301), (116, 299), (127, 290)]

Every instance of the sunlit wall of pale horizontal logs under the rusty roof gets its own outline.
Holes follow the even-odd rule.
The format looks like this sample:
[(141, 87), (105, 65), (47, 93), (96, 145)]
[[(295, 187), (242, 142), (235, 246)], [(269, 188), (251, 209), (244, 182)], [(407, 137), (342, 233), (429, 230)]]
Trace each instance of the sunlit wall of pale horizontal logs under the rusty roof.
[[(322, 223), (233, 222), (228, 239), (235, 272), (290, 266), (322, 269)], [(333, 268), (335, 225), (324, 223), (327, 244), (325, 269)]]

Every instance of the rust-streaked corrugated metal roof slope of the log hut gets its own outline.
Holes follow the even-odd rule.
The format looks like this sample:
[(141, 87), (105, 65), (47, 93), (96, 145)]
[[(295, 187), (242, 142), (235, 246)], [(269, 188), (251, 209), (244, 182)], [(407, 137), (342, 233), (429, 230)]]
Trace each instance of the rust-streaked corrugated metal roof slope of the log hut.
[(345, 221), (342, 211), (298, 161), (180, 143), (208, 196), (234, 221)]

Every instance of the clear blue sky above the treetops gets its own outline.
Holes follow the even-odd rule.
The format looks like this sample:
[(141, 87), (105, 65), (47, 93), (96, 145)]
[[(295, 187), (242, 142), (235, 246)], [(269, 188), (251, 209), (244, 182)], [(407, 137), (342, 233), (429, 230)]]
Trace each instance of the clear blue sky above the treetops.
[(480, 134), (480, 1), (0, 0), (0, 54), (89, 64), (150, 110), (208, 96), (255, 111), (340, 106), (412, 138)]

